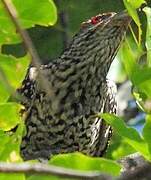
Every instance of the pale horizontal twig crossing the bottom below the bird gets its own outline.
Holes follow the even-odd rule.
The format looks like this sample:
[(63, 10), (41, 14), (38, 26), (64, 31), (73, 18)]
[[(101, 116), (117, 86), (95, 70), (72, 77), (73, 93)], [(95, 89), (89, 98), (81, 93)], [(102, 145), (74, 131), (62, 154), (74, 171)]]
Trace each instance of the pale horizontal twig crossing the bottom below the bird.
[(99, 172), (84, 172), (72, 169), (66, 169), (53, 165), (46, 164), (29, 164), (29, 163), (0, 163), (1, 173), (38, 173), (55, 175), (59, 177), (77, 178), (77, 179), (101, 179), (111, 180), (108, 175), (103, 175)]

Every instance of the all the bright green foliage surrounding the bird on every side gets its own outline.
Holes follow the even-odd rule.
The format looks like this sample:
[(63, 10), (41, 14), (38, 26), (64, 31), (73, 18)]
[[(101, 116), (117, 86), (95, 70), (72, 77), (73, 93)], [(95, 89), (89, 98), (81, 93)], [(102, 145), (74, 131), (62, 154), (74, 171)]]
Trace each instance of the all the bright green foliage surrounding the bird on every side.
[[(12, 0), (12, 2), (17, 9), (23, 28), (31, 28), (36, 25), (49, 26), (56, 23), (56, 6), (52, 0), (38, 1), (38, 3), (37, 0)], [(144, 42), (142, 39), (140, 19), (136, 11), (136, 8), (139, 8), (142, 3), (145, 3), (145, 1), (124, 0), (125, 7), (138, 27), (138, 38), (136, 38), (135, 33), (131, 30), (133, 38), (129, 37), (123, 44), (118, 58), (122, 61), (126, 75), (134, 86), (133, 95), (137, 103), (147, 114), (146, 123), (140, 135), (133, 128), (127, 127), (122, 118), (110, 114), (98, 115), (111, 124), (119, 135), (119, 142), (117, 143), (118, 150), (115, 148), (111, 152), (112, 155), (110, 158), (112, 159), (121, 157), (121, 154), (124, 154), (121, 153), (124, 151), (123, 147), (126, 145), (127, 153), (140, 152), (147, 160), (151, 160), (151, 107), (148, 105), (151, 104), (151, 9), (149, 7), (143, 9), (147, 17), (146, 40)], [(73, 2), (73, 4), (69, 3), (68, 7), (73, 10), (75, 4), (76, 2)], [(82, 3), (81, 6), (85, 8), (85, 2)], [(98, 4), (94, 6), (96, 9), (98, 8)], [(67, 8), (67, 2), (65, 0), (61, 2), (59, 8), (61, 9), (61, 7), (63, 9)], [(87, 8), (89, 10), (90, 6), (88, 5)], [(76, 11), (70, 12), (73, 15), (74, 21), (77, 21), (77, 23), (77, 16), (80, 18), (82, 14), (82, 8), (80, 10), (81, 13), (78, 15)], [(74, 13), (76, 13), (76, 15)], [(72, 33), (77, 28), (76, 26), (76, 24), (69, 23)], [(60, 28), (58, 24), (57, 27)], [(21, 38), (19, 34), (16, 33), (16, 29), (7, 15), (2, 2), (0, 2), (0, 29), (1, 46), (21, 42)], [(144, 48), (144, 45), (146, 48)], [(146, 61), (140, 64), (139, 61), (144, 54), (146, 54)], [(20, 58), (0, 54), (0, 161), (22, 161), (19, 154), (20, 142), (22, 134), (24, 133), (24, 124), (19, 116), (19, 111), (22, 107), (14, 102), (11, 97), (14, 96), (15, 89), (21, 85), (29, 64), (30, 57), (28, 54)], [(16, 126), (17, 130), (15, 133), (13, 131), (11, 132), (10, 130), (16, 128)], [(49, 163), (85, 171), (101, 171), (115, 176), (120, 173), (121, 169), (120, 165), (111, 159), (91, 158), (80, 153), (54, 156)], [(19, 180), (48, 179), (47, 176), (31, 175), (26, 177), (24, 174), (13, 174), (11, 176), (8, 174), (0, 174), (0, 179), (4, 178)], [(58, 179), (57, 177), (51, 177), (51, 179), (52, 178)]]

